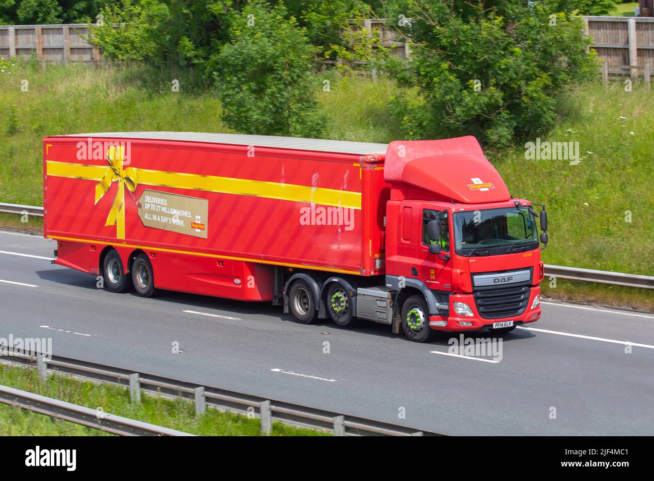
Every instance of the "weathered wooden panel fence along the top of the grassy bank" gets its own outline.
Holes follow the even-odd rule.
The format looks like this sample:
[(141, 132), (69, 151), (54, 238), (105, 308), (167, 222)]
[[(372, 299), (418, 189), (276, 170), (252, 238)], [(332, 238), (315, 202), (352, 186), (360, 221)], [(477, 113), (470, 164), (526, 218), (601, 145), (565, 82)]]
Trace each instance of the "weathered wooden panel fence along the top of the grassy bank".
[[(609, 73), (628, 73), (638, 77), (645, 64), (654, 65), (654, 18), (585, 16), (593, 48), (608, 65)], [(46, 61), (92, 61), (101, 59), (101, 50), (87, 42), (90, 24), (0, 26), (0, 57), (35, 56)], [(396, 58), (411, 54), (409, 45), (398, 41), (398, 34), (383, 20), (364, 21), (371, 32), (379, 29), (383, 45)], [(358, 62), (360, 63), (360, 62)]]

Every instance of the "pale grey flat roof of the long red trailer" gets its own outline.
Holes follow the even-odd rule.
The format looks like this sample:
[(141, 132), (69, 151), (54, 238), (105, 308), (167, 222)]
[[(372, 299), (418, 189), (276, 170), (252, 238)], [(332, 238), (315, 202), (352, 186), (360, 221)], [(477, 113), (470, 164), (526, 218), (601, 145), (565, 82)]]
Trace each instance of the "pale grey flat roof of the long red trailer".
[(211, 134), (208, 132), (93, 132), (69, 134), (66, 137), (110, 137), (118, 139), (158, 139), (192, 142), (254, 145), (301, 151), (341, 152), (344, 154), (385, 154), (388, 144), (345, 140), (303, 139), (273, 135)]

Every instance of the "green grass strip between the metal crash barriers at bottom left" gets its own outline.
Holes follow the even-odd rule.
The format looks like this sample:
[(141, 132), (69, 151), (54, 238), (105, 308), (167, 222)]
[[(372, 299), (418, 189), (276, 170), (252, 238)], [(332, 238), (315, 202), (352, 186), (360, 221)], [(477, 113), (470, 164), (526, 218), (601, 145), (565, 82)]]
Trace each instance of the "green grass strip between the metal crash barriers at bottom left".
[[(137, 419), (158, 426), (177, 429), (199, 436), (259, 436), (260, 421), (239, 414), (208, 409), (196, 416), (194, 404), (184, 400), (171, 401), (142, 393), (139, 404), (130, 404), (129, 390), (111, 384), (82, 382), (52, 374), (45, 382), (35, 368), (0, 365), (0, 384), (39, 395), (61, 399), (92, 409), (101, 408), (125, 418)], [(35, 414), (18, 407), (0, 404), (0, 436), (102, 436), (103, 431), (91, 429)], [(326, 435), (313, 429), (300, 429), (273, 423), (273, 436)]]

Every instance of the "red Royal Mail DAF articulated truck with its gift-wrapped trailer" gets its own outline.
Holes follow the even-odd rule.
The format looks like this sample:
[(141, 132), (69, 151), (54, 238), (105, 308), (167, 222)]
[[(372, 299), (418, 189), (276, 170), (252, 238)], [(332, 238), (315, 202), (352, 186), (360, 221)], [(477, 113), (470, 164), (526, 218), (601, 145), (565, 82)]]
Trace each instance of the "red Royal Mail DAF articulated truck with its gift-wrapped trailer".
[(545, 206), (474, 137), (101, 132), (45, 137), (43, 162), (52, 262), (113, 293), (268, 301), (415, 342), (541, 315)]

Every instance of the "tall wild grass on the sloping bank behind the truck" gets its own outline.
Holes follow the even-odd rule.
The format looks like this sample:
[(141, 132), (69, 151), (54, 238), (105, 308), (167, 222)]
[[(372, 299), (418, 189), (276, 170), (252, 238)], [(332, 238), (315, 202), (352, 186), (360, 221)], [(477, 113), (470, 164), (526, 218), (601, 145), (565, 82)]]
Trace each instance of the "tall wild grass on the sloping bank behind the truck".
[[(192, 71), (53, 65), (43, 72), (29, 62), (11, 68), (11, 74), (0, 73), (0, 105), (10, 110), (0, 124), (0, 202), (41, 205), (43, 135), (228, 132), (215, 93)], [(317, 94), (328, 118), (325, 138), (382, 143), (402, 138), (388, 113), (390, 80), (319, 77), (330, 80), (329, 91)], [(171, 92), (170, 78), (179, 79), (180, 92)], [(29, 92), (21, 92), (20, 79), (29, 80)], [(576, 166), (567, 160), (526, 160), (522, 145), (487, 152), (511, 194), (547, 205), (545, 263), (654, 272), (653, 103), (653, 92), (639, 84), (625, 92), (621, 82), (606, 90), (595, 82), (560, 96), (556, 127), (542, 141), (579, 142)], [(645, 305), (654, 302), (654, 293), (634, 296)]]

